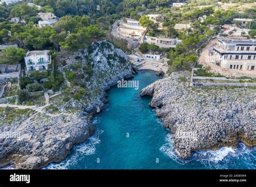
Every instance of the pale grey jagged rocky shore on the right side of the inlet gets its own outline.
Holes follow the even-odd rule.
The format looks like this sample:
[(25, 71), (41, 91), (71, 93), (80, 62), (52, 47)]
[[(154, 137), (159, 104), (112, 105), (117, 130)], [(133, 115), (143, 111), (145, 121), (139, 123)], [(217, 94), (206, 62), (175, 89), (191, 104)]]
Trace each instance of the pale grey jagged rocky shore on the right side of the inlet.
[[(170, 128), (181, 158), (195, 150), (255, 146), (256, 91), (250, 88), (188, 87), (188, 72), (158, 80), (141, 91)], [(186, 80), (186, 81), (185, 81)]]

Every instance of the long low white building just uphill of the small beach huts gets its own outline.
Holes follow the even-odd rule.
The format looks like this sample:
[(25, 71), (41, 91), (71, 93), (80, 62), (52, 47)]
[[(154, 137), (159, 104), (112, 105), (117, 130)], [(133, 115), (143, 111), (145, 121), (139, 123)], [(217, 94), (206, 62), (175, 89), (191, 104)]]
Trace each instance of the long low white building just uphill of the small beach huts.
[(155, 44), (160, 48), (174, 48), (181, 40), (172, 38), (149, 37), (146, 35), (144, 41), (148, 44)]

